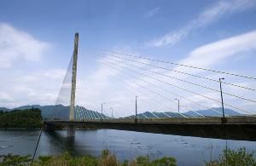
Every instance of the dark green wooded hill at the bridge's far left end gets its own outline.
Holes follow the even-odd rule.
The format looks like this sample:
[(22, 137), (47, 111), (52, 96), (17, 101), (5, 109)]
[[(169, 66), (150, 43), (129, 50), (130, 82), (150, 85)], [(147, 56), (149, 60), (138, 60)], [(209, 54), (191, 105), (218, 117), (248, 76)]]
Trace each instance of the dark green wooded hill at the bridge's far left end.
[(41, 110), (26, 109), (11, 112), (0, 111), (0, 128), (38, 129), (42, 127)]

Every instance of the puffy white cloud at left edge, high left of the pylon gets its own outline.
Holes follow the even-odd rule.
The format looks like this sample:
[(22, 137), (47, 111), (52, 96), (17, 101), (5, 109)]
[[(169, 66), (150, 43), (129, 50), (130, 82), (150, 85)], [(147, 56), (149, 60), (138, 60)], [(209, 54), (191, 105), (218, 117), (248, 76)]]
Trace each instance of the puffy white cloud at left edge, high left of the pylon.
[(40, 60), (47, 49), (49, 43), (0, 22), (0, 68), (9, 68), (20, 59)]

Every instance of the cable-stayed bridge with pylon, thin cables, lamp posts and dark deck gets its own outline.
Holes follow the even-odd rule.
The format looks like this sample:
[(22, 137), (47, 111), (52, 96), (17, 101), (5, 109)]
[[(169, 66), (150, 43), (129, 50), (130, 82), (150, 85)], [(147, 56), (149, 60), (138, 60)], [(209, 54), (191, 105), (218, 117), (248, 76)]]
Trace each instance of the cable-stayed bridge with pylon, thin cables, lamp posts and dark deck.
[[(241, 109), (240, 107), (230, 105), (228, 103), (224, 103), (223, 98), (222, 101), (218, 101), (215, 99), (212, 99), (210, 97), (205, 96), (204, 94), (198, 94), (196, 92), (193, 92), (188, 89), (183, 89), (181, 87), (178, 87), (177, 85), (172, 85), (171, 83), (167, 83), (169, 85), (172, 85), (178, 89), (185, 90), (192, 94), (197, 94), (201, 97), (207, 98), (208, 100), (213, 100), (216, 102), (219, 102), (222, 104), (223, 112), (219, 112), (222, 114), (222, 117), (205, 117), (201, 113), (195, 112), (199, 115), (199, 117), (186, 117), (182, 113), (179, 112), (179, 100), (178, 100), (178, 115), (179, 117), (169, 117), (168, 118), (138, 118), (137, 117), (137, 97), (136, 97), (136, 115), (130, 116), (129, 118), (109, 118), (103, 114), (96, 113), (95, 119), (84, 119), (84, 112), (81, 107), (75, 106), (75, 89), (76, 89), (76, 72), (77, 72), (77, 60), (78, 60), (78, 44), (79, 44), (79, 34), (77, 33), (75, 35), (75, 43), (74, 43), (74, 51), (73, 51), (73, 58), (71, 60), (70, 66), (68, 68), (72, 68), (72, 84), (71, 84), (71, 100), (70, 100), (70, 112), (69, 112), (69, 120), (61, 120), (58, 118), (53, 118), (53, 120), (44, 121), (44, 127), (45, 129), (55, 129), (56, 125), (64, 125), (67, 127), (67, 136), (73, 137), (75, 135), (75, 129), (77, 127), (84, 127), (88, 129), (119, 129), (119, 130), (129, 130), (129, 131), (138, 131), (138, 132), (147, 132), (147, 133), (156, 133), (156, 134), (165, 134), (165, 135), (188, 135), (188, 136), (199, 136), (199, 137), (206, 137), (206, 138), (218, 138), (218, 139), (230, 139), (230, 140), (256, 140), (256, 117), (254, 112), (247, 111), (245, 109)], [(132, 55), (128, 55), (132, 56)], [(137, 57), (137, 58), (143, 58), (143, 57)], [(147, 59), (147, 58), (143, 58)], [(147, 59), (148, 60), (148, 59)], [(132, 61), (132, 60), (131, 60)], [(161, 62), (160, 60), (156, 60)], [(174, 64), (179, 65), (179, 64)], [(185, 66), (185, 65), (179, 65), (179, 66)], [(206, 70), (210, 72), (218, 72), (203, 68), (198, 68), (194, 66), (185, 66), (185, 67), (192, 67), (196, 69)], [(163, 67), (162, 67), (163, 68)], [(164, 69), (164, 68), (163, 68)], [(150, 72), (150, 71), (149, 71)], [(138, 72), (137, 72), (138, 73)], [(154, 72), (157, 73), (157, 72)], [(241, 75), (232, 74), (228, 72), (218, 72), (222, 74), (229, 74), (236, 77), (243, 77)], [(160, 73), (158, 73), (160, 74)], [(183, 73), (184, 74), (184, 73)], [(198, 77), (189, 73), (185, 73), (193, 77)], [(162, 76), (166, 76), (161, 74)], [(66, 76), (69, 76), (68, 73)], [(146, 76), (143, 74), (143, 76)], [(150, 77), (150, 76), (149, 76)], [(168, 76), (166, 76), (168, 77)], [(169, 76), (170, 77), (170, 76)], [(160, 81), (162, 83), (166, 83), (161, 81), (158, 78), (154, 78), (156, 81)], [(172, 77), (173, 78), (173, 77)], [(200, 77), (203, 78), (203, 77)], [(256, 79), (254, 77), (246, 77), (246, 78), (252, 78)], [(175, 78), (177, 79), (177, 78)], [(210, 81), (215, 81), (210, 78), (206, 78)], [(214, 90), (221, 93), (222, 97), (222, 87), (221, 87), (221, 80), (223, 78), (219, 79), (220, 83), (220, 91), (216, 89), (207, 88), (206, 86), (202, 86), (196, 83), (190, 83), (189, 81), (184, 81), (182, 79), (177, 79), (179, 81), (183, 81), (185, 83), (190, 83), (196, 86), (200, 86), (201, 88)], [(64, 78), (65, 81), (65, 78)], [(148, 83), (148, 82), (145, 82)], [(225, 83), (225, 82), (224, 82)], [(63, 82), (63, 84), (65, 84)], [(152, 83), (150, 83), (152, 84)], [(256, 89), (251, 89), (247, 87), (242, 87), (240, 85), (236, 85), (233, 83), (226, 83), (230, 86), (236, 86), (236, 88), (243, 88), (243, 89), (249, 89), (256, 91)], [(152, 84), (154, 85), (154, 84)], [(154, 85), (155, 86), (155, 85)], [(157, 86), (156, 86), (157, 87)], [(143, 87), (145, 88), (145, 87)], [(158, 88), (158, 87), (157, 87)], [(150, 92), (155, 93), (155, 91), (148, 89)], [(166, 89), (161, 89), (166, 90)], [(171, 94), (174, 94), (170, 91), (167, 91)], [(155, 93), (158, 94), (158, 93)], [(224, 94), (231, 95), (232, 97), (239, 98), (241, 100), (247, 100), (250, 102), (256, 102), (254, 100), (247, 99), (245, 97), (237, 96), (235, 94), (229, 94), (224, 92)], [(189, 100), (182, 95), (175, 94), (185, 100)], [(161, 95), (161, 97), (165, 96)], [(167, 99), (170, 100), (170, 99)], [(177, 100), (177, 99), (175, 99)], [(191, 102), (194, 102), (193, 100), (189, 100)], [(203, 106), (201, 103), (195, 103), (199, 106)], [(231, 117), (231, 116), (225, 116), (224, 114), (224, 106), (230, 106), (231, 108), (236, 108), (237, 110), (240, 110), (241, 112), (247, 112), (247, 116), (237, 116), (237, 117)], [(207, 107), (207, 106), (204, 106)], [(82, 110), (81, 110), (82, 109)], [(210, 108), (214, 112), (218, 112), (217, 110)], [(113, 111), (113, 110), (112, 110)], [(80, 113), (80, 117), (77, 116), (78, 112)], [(86, 111), (85, 111), (86, 113)], [(164, 112), (163, 112), (164, 113)], [(152, 113), (153, 114), (153, 113)], [(82, 115), (82, 116), (81, 116)], [(100, 116), (99, 116), (100, 115)], [(146, 117), (145, 115), (143, 115)], [(91, 116), (92, 117), (92, 116)], [(98, 118), (100, 117), (100, 118)]]

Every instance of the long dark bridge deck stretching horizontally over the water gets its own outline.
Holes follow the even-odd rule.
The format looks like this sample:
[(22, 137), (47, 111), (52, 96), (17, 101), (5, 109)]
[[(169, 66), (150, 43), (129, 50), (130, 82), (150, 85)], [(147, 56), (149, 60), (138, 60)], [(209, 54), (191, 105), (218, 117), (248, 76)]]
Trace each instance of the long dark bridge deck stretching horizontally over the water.
[[(45, 121), (55, 125), (81, 126), (87, 129), (119, 129), (165, 135), (186, 135), (229, 140), (256, 140), (256, 117), (171, 117), (162, 119), (96, 119), (82, 121)], [(54, 128), (53, 128), (54, 129)]]

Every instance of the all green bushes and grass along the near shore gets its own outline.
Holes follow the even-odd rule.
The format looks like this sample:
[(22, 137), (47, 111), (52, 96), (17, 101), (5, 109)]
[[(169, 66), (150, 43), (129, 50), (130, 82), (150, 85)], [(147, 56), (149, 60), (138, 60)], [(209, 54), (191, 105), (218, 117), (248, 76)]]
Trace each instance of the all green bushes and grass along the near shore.
[[(30, 156), (20, 157), (15, 155), (3, 156), (3, 162), (0, 166), (7, 165), (31, 165)], [(120, 163), (118, 159), (108, 150), (102, 151), (102, 156), (97, 157), (73, 157), (68, 152), (56, 157), (39, 157), (34, 162), (34, 166), (175, 166), (174, 157), (161, 157), (156, 160), (150, 160), (149, 157), (137, 157), (133, 160), (126, 160)], [(253, 158), (253, 152), (246, 152), (245, 148), (234, 150), (224, 150), (218, 160), (206, 162), (206, 166), (256, 166), (256, 159)]]

